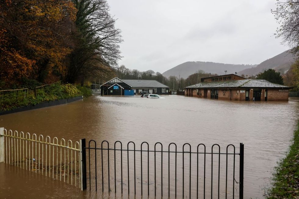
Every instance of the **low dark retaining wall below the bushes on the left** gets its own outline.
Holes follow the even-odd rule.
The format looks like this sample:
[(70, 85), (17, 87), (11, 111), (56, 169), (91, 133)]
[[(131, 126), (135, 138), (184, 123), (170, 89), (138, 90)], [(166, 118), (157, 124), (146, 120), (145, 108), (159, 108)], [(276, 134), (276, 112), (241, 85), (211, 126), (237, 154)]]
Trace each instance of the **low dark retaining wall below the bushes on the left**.
[(35, 104), (35, 105), (30, 105), (30, 106), (22, 106), (22, 107), (13, 109), (13, 110), (0, 112), (0, 115), (5, 115), (5, 114), (9, 114), (9, 113), (17, 113), (17, 112), (21, 112), (21, 111), (25, 111), (25, 110), (45, 108), (45, 107), (48, 107), (48, 106), (56, 106), (56, 105), (60, 105), (60, 104), (67, 104), (67, 103), (74, 102), (74, 101), (77, 101), (77, 100), (82, 100), (82, 99), (83, 99), (83, 96), (78, 96), (78, 97), (73, 97), (73, 98), (68, 98), (68, 99), (54, 100), (54, 101), (50, 101), (50, 102), (43, 102), (43, 103), (40, 103), (40, 104)]

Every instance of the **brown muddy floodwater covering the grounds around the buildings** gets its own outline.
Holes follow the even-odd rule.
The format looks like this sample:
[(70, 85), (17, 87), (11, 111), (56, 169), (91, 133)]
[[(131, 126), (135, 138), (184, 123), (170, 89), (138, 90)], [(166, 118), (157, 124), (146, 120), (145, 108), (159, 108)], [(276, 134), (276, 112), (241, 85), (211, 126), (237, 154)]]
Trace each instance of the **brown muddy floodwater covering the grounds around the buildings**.
[[(181, 150), (187, 142), (194, 147), (192, 150), (204, 143), (210, 152), (211, 146), (217, 143), (224, 148), (233, 144), (239, 152), (239, 143), (243, 142), (244, 198), (262, 198), (265, 188), (271, 186), (276, 162), (290, 145), (298, 115), (299, 102), (295, 101), (231, 102), (185, 96), (165, 96), (165, 99), (93, 96), (70, 104), (3, 115), (0, 116), (0, 126), (73, 141), (86, 138), (100, 143), (107, 140), (111, 146), (119, 140), (124, 148), (128, 141), (134, 141), (136, 148), (140, 148), (142, 141), (147, 141), (150, 148), (161, 142), (163, 149), (175, 142)], [(102, 195), (99, 188), (97, 193), (94, 190), (81, 192), (60, 181), (3, 163), (0, 163), (0, 187), (0, 198), (108, 197)], [(164, 189), (167, 193), (166, 185)], [(220, 197), (225, 195), (221, 193)]]

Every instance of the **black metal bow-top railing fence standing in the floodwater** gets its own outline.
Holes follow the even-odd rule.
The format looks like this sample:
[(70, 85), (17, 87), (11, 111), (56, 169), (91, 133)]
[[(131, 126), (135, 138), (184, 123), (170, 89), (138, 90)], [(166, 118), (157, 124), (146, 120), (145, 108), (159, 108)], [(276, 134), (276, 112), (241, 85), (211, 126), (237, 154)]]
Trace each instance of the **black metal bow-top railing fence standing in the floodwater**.
[(83, 179), (89, 190), (101, 187), (102, 192), (122, 197), (243, 198), (242, 143), (239, 153), (232, 144), (224, 148), (214, 144), (207, 152), (204, 144), (192, 148), (185, 143), (178, 150), (175, 143), (166, 149), (157, 142), (151, 149), (148, 142), (142, 142), (137, 149), (132, 141), (123, 148), (120, 141), (113, 146), (102, 141), (99, 146), (95, 140), (85, 149), (87, 174)]

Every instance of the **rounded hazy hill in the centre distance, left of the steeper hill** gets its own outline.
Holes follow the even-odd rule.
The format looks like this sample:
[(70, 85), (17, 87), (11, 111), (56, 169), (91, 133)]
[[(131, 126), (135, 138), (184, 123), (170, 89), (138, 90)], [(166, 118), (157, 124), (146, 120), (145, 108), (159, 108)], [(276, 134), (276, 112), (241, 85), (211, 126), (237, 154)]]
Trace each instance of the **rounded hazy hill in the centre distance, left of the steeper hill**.
[[(197, 72), (198, 70), (203, 70), (207, 73), (217, 73), (218, 75), (224, 75), (227, 71), (228, 74), (239, 72), (246, 68), (256, 67), (257, 65), (244, 65), (244, 64), (222, 64), (215, 62), (204, 62), (204, 61), (187, 61), (180, 65), (171, 68), (162, 75), (169, 77), (171, 75), (179, 76), (182, 78), (187, 78), (189, 75)], [(239, 73), (238, 73), (239, 74)]]

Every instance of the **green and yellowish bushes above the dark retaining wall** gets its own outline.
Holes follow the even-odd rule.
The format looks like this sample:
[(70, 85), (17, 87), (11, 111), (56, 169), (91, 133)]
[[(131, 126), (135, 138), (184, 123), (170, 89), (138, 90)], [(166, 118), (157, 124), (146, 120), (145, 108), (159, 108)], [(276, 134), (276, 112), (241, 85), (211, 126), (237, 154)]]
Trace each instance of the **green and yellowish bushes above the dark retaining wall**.
[(21, 106), (35, 105), (42, 102), (67, 99), (76, 96), (88, 97), (92, 90), (73, 84), (52, 84), (34, 90), (7, 91), (0, 93), (0, 111), (13, 110)]

